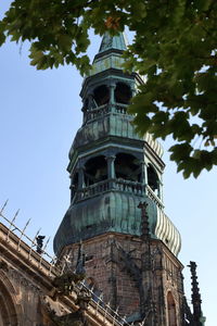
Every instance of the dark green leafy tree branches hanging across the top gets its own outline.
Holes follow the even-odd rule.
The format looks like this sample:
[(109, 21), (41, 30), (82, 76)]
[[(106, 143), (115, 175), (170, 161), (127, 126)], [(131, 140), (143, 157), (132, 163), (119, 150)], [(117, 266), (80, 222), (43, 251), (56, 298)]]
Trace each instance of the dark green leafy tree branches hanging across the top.
[(170, 159), (188, 178), (217, 165), (216, 0), (14, 0), (0, 21), (0, 46), (30, 41), (38, 70), (75, 64), (90, 68), (88, 30), (135, 33), (124, 53), (126, 71), (146, 83), (129, 112), (140, 134), (175, 145)]

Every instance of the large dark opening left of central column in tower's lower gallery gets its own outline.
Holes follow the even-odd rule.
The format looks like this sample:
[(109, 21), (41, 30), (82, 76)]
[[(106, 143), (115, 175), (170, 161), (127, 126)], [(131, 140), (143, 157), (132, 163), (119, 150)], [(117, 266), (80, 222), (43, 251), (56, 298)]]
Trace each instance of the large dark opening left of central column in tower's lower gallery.
[(92, 158), (85, 164), (85, 184), (90, 186), (107, 179), (107, 162), (105, 156)]

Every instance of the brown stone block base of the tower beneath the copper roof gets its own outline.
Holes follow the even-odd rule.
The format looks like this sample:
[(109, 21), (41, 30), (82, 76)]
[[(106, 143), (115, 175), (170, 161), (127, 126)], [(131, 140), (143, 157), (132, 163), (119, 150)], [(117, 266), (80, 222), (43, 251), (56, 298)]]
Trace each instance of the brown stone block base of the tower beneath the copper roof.
[[(77, 244), (65, 249), (72, 252), (73, 261), (77, 250)], [(175, 325), (184, 325), (183, 266), (162, 241), (146, 243), (137, 237), (106, 234), (85, 241), (84, 250), (91, 285), (129, 322), (146, 316), (146, 323), (154, 318), (153, 325), (169, 325), (170, 296), (176, 309)]]

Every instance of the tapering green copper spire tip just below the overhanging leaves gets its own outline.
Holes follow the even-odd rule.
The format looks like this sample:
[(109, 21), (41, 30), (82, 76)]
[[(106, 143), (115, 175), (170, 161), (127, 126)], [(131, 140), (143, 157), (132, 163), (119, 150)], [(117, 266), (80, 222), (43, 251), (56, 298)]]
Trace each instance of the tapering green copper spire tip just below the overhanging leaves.
[(111, 36), (110, 34), (105, 34), (103, 36), (99, 53), (102, 53), (107, 50), (127, 50), (127, 39), (123, 33), (119, 33), (116, 36)]

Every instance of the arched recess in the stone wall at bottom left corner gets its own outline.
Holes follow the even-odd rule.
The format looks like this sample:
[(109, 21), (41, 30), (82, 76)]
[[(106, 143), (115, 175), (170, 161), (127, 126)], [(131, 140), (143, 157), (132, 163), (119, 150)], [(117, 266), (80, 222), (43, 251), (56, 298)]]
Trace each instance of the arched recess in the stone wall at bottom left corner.
[(0, 325), (17, 326), (17, 314), (11, 294), (14, 290), (13, 288), (12, 290), (10, 288), (12, 288), (12, 286), (9, 285), (9, 281), (7, 281), (7, 285), (0, 281)]

